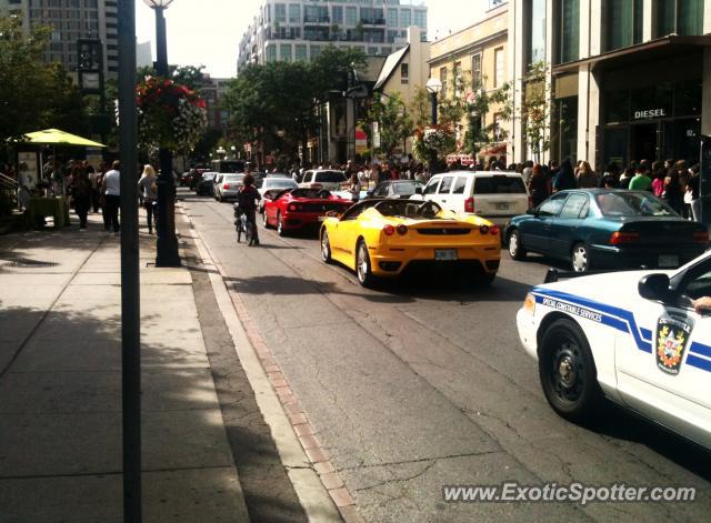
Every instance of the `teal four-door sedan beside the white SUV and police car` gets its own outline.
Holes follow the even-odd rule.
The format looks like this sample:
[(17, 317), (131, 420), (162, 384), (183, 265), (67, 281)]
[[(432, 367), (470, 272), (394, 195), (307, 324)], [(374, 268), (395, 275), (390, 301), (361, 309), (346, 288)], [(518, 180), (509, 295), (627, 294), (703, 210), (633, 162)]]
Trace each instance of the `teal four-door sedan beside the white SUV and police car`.
[(709, 231), (681, 218), (645, 191), (580, 189), (557, 192), (504, 231), (514, 260), (535, 252), (591, 269), (674, 269), (709, 247)]

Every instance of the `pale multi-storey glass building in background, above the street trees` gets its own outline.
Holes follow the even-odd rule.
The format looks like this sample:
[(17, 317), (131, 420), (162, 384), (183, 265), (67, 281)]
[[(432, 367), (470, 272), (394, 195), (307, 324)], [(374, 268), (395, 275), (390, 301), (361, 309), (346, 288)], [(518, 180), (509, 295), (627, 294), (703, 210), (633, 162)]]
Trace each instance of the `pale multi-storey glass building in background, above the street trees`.
[(249, 63), (309, 61), (329, 44), (387, 57), (407, 46), (410, 26), (427, 40), (422, 0), (266, 0), (240, 41), (237, 73)]

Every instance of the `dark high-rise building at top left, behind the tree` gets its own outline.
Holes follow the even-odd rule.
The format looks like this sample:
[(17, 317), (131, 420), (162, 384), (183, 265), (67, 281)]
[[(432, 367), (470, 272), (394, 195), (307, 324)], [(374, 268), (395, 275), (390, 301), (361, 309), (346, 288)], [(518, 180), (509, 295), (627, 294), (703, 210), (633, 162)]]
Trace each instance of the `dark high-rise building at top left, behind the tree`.
[(118, 0), (0, 0), (2, 12), (21, 14), (28, 32), (32, 27), (50, 26), (44, 58), (61, 62), (70, 73), (77, 71), (77, 41), (99, 39), (103, 43), (104, 76), (118, 76)]

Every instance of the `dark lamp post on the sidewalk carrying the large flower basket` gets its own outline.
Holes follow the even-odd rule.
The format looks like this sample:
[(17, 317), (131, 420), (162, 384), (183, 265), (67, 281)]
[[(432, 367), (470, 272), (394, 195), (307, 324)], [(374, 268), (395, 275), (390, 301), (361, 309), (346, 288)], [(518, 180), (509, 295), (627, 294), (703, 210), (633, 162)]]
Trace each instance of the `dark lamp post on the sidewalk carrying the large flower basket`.
[[(156, 72), (168, 78), (168, 42), (163, 11), (173, 0), (143, 0), (156, 11)], [(160, 174), (158, 185), (158, 223), (156, 231), (156, 266), (180, 266), (178, 238), (176, 237), (176, 181), (173, 180), (173, 157), (170, 149), (158, 151)]]

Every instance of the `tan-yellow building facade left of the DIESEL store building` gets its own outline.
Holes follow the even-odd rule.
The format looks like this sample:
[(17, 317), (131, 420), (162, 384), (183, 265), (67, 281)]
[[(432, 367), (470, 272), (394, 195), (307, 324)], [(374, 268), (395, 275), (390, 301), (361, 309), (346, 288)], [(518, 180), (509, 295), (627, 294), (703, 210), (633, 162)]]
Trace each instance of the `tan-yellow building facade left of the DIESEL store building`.
[[(432, 42), (430, 49), (430, 74), (442, 82), (440, 97), (468, 97), (483, 89), (495, 91), (509, 81), (509, 6), (505, 1), (491, 0), (485, 17), (473, 26)], [(510, 134), (511, 122), (501, 118), (501, 107), (492, 105), (481, 115), (479, 124), (487, 128), (498, 123)], [(464, 117), (457, 127), (457, 140), (461, 145), (468, 130)], [(507, 140), (488, 144), (480, 157), (512, 158)]]

